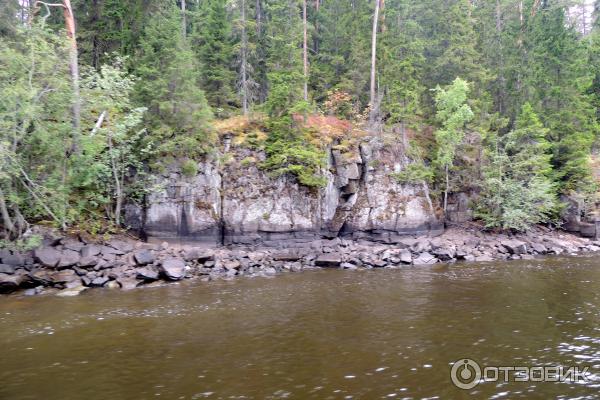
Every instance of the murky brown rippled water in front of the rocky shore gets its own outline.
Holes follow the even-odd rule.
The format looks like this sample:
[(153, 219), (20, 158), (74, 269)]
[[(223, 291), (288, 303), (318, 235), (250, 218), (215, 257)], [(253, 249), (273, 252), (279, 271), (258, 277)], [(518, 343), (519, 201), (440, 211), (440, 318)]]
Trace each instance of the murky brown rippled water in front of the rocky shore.
[[(600, 259), (314, 271), (0, 298), (0, 399), (600, 398), (450, 364), (600, 372)], [(592, 374), (592, 378), (595, 375)]]

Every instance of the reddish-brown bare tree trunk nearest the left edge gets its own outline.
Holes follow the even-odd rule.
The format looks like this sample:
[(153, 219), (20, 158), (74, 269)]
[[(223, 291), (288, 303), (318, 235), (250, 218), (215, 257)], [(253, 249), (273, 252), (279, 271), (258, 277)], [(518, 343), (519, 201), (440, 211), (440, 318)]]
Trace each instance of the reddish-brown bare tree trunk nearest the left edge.
[(71, 41), (69, 51), (69, 70), (71, 71), (71, 81), (73, 84), (73, 144), (72, 151), (75, 154), (81, 152), (80, 149), (80, 130), (81, 130), (81, 97), (79, 95), (79, 61), (77, 56), (77, 39), (75, 37), (75, 15), (71, 8), (71, 0), (63, 0), (63, 14), (65, 17), (65, 27), (67, 36)]

